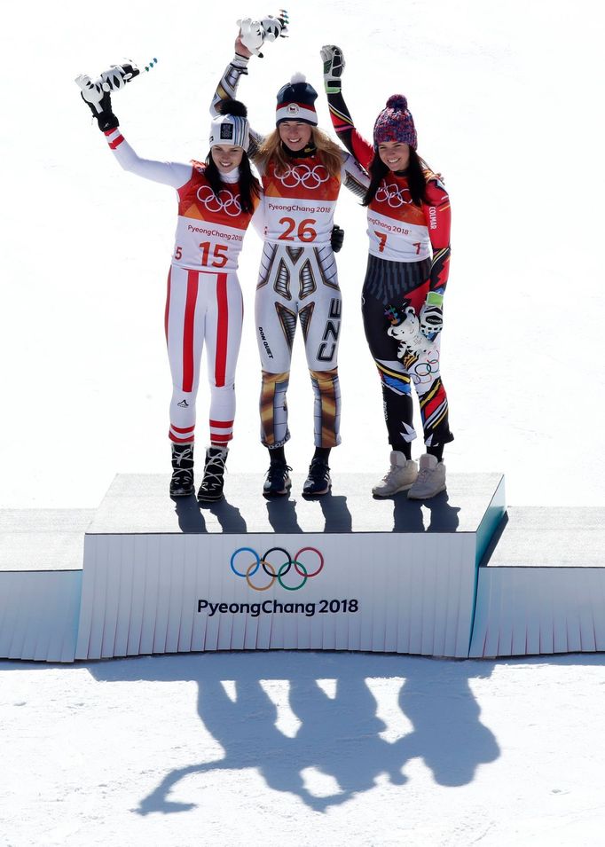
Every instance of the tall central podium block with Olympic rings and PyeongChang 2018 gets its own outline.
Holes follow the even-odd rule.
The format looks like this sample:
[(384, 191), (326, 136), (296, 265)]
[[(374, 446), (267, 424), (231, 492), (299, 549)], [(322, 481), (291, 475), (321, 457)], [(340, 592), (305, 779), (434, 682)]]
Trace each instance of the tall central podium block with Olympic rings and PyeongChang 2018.
[[(303, 478), (295, 478), (293, 492)], [(505, 511), (500, 474), (452, 475), (426, 505), (340, 475), (324, 498), (172, 501), (117, 476), (86, 531), (76, 659), (241, 649), (468, 656), (477, 566)]]

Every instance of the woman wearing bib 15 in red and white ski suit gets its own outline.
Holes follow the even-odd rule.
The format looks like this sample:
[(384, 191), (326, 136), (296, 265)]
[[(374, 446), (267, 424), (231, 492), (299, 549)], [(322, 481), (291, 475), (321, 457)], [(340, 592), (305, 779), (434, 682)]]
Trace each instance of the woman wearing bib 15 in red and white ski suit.
[[(84, 89), (84, 99), (86, 93)], [(177, 191), (177, 232), (165, 311), (173, 384), (170, 494), (185, 496), (194, 491), (195, 401), (205, 345), (209, 446), (198, 498), (216, 500), (223, 496), (224, 461), (235, 417), (235, 366), (243, 316), (236, 271), (244, 234), (261, 194), (245, 152), (249, 132), (246, 108), (236, 101), (225, 103), (223, 114), (217, 114), (212, 122), (207, 161), (184, 164), (138, 156), (111, 112), (108, 95), (106, 100), (100, 114), (90, 107), (122, 168)]]

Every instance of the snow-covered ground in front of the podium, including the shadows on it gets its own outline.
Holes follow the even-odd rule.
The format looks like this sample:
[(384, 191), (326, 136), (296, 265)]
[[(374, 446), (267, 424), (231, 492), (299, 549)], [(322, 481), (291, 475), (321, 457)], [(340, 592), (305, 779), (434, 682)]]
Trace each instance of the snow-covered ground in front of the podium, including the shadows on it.
[(0, 672), (3, 845), (602, 844), (601, 656)]

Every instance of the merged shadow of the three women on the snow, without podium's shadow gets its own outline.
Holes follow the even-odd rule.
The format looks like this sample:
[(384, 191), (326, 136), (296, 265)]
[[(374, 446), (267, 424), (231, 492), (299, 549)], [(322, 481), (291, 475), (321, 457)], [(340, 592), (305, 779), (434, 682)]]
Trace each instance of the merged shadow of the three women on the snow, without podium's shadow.
[[(388, 657), (364, 658), (373, 664), (372, 675), (379, 675), (381, 660)], [(339, 674), (334, 697), (318, 686), (316, 675), (321, 670), (317, 667), (312, 675), (292, 679), (290, 706), (301, 721), (294, 738), (276, 726), (278, 710), (261, 686), (263, 674), (260, 678), (246, 674), (238, 680), (235, 702), (219, 678), (200, 679), (200, 719), (222, 744), (225, 755), (169, 772), (141, 801), (138, 812), (189, 811), (195, 804), (170, 800), (171, 789), (194, 773), (217, 770), (255, 768), (270, 788), (299, 796), (317, 812), (373, 788), (381, 775), (393, 784), (405, 784), (404, 767), (417, 757), (440, 785), (466, 784), (478, 765), (499, 756), (493, 734), (479, 720), (480, 710), (468, 685), (469, 675), (475, 676), (469, 671), (475, 671), (476, 665), (439, 663), (436, 672), (427, 672), (427, 664), (423, 659), (407, 659), (402, 668), (405, 684), (399, 704), (412, 721), (413, 732), (394, 742), (380, 736), (386, 725), (376, 716), (376, 700), (365, 681), (367, 667)], [(351, 666), (355, 671), (357, 663)], [(389, 668), (393, 670), (392, 663)], [(330, 676), (329, 670), (326, 675)], [(338, 791), (328, 796), (311, 794), (303, 779), (310, 767), (334, 778)]]

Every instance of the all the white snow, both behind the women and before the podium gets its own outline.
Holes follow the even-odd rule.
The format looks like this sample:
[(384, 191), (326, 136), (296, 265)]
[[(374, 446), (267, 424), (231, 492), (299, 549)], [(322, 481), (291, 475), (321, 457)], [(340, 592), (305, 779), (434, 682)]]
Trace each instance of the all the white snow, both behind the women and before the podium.
[[(174, 192), (122, 172), (73, 82), (130, 57), (114, 96), (148, 158), (207, 152), (228, 4), (7, 4), (0, 27), (3, 309), (0, 506), (93, 507), (117, 472), (166, 472), (163, 307)], [(289, 39), (240, 84), (255, 129), (323, 43), (370, 136), (402, 91), (452, 198), (443, 374), (452, 473), (503, 471), (508, 502), (603, 504), (602, 43), (595, 6), (543, 0), (289, 4)], [(389, 447), (359, 314), (365, 212), (342, 192), (342, 446), (380, 477)], [(231, 473), (259, 472), (247, 303)], [(301, 339), (287, 458), (312, 451)], [(208, 394), (198, 400), (201, 438)], [(420, 442), (417, 443), (420, 452)], [(228, 484), (228, 481), (227, 481)], [(375, 655), (196, 655), (0, 663), (0, 844), (602, 843), (601, 656), (450, 663)], [(199, 702), (198, 702), (199, 701)]]

